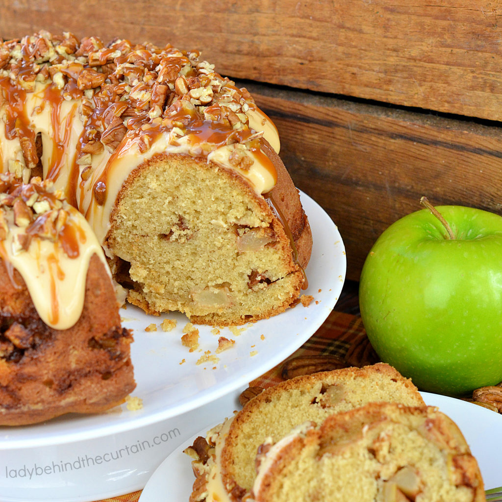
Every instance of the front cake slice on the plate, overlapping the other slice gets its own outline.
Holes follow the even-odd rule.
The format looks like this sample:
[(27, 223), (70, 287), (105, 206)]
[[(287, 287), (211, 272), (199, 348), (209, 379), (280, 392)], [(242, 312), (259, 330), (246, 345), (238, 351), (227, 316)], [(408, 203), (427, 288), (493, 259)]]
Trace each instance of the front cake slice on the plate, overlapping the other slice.
[(458, 427), (433, 407), (371, 403), (305, 424), (257, 458), (256, 502), (481, 502)]

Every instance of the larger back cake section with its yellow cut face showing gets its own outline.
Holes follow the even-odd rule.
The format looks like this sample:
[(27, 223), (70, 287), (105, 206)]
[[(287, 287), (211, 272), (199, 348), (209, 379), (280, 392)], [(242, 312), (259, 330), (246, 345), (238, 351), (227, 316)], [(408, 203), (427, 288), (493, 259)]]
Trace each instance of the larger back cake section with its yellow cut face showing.
[(0, 166), (52, 179), (147, 313), (232, 325), (283, 312), (312, 236), (245, 89), (171, 45), (39, 32), (0, 45)]

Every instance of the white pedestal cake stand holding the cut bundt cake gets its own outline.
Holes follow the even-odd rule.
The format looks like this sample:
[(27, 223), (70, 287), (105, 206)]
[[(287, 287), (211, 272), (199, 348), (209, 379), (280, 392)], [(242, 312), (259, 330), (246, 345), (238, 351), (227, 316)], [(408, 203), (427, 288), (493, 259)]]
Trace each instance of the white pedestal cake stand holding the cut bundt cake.
[[(299, 304), (271, 319), (242, 326), (237, 335), (229, 328), (215, 334), (210, 326), (197, 326), (200, 351), (192, 353), (181, 344), (182, 330), (188, 322), (186, 316), (179, 313), (147, 316), (128, 306), (121, 316), (123, 325), (134, 331), (131, 350), (138, 385), (133, 397), (143, 400), (142, 409), (130, 411), (122, 405), (99, 415), (66, 415), (34, 426), (0, 427), (3, 502), (44, 500), (41, 488), (52, 494), (51, 500), (97, 500), (127, 493), (133, 487), (142, 488), (162, 459), (177, 446), (175, 441), (157, 447), (157, 456), (137, 451), (135, 455), (124, 454), (120, 461), (101, 462), (85, 470), (73, 459), (94, 454), (93, 458), (100, 457), (102, 452), (117, 448), (121, 451), (122, 444), (131, 445), (133, 440), (141, 443), (143, 438), (153, 438), (173, 428), (180, 431), (176, 442), (181, 443), (206, 421), (197, 419), (197, 428), (193, 429), (192, 412), (196, 416), (206, 406), (215, 414), (217, 410), (212, 404), (216, 400), (235, 397), (249, 381), (283, 361), (312, 336), (339, 297), (346, 258), (341, 236), (331, 218), (310, 197), (301, 194), (301, 198), (314, 239), (306, 270), (309, 287), (303, 293), (312, 295), (315, 301), (309, 307)], [(176, 319), (174, 330), (162, 331), (160, 323), (165, 318)], [(158, 326), (158, 331), (145, 331), (151, 323)], [(218, 336), (234, 339), (235, 345), (215, 354)], [(218, 360), (197, 364), (205, 351), (216, 355)], [(49, 464), (44, 463), (42, 459), (49, 456)], [(34, 459), (40, 459), (37, 465)], [(66, 465), (66, 459), (71, 459), (76, 467), (59, 469), (61, 461)], [(33, 469), (48, 466), (50, 472), (29, 478), (30, 466)], [(36, 469), (33, 472), (36, 474)], [(77, 496), (86, 472), (92, 475), (93, 483), (82, 487), (81, 496)], [(136, 480), (131, 481), (132, 478)]]

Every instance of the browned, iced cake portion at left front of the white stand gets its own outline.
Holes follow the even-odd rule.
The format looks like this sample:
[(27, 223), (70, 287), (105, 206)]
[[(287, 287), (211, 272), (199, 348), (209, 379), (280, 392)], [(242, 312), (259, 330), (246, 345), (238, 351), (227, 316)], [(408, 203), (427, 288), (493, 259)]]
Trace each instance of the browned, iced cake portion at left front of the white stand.
[(0, 174), (0, 425), (120, 404), (132, 340), (85, 218), (52, 182)]

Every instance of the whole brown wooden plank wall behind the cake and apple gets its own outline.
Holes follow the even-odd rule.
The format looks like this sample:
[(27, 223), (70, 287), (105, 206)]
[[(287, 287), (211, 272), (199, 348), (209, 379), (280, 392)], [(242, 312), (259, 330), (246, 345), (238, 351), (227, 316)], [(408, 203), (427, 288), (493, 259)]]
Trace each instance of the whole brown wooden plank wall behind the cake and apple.
[(17, 0), (0, 3), (0, 37), (202, 49), (276, 122), (293, 180), (338, 225), (357, 280), (423, 194), (502, 213), (501, 16), (488, 0)]

